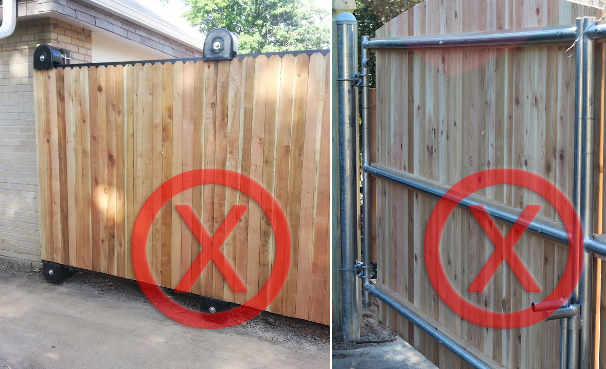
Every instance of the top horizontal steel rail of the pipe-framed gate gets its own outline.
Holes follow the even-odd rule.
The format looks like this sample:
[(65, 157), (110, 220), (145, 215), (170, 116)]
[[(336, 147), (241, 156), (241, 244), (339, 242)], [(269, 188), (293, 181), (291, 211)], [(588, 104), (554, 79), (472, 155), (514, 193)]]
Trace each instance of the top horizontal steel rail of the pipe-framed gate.
[[(594, 26), (596, 27), (596, 26)], [(598, 35), (596, 31), (593, 33)], [(606, 36), (606, 28), (600, 30)], [(393, 48), (442, 48), (442, 47), (496, 47), (500, 45), (540, 44), (541, 42), (574, 42), (576, 26), (538, 27), (519, 30), (482, 31), (435, 36), (410, 36), (402, 38), (375, 38), (362, 42), (368, 49)]]

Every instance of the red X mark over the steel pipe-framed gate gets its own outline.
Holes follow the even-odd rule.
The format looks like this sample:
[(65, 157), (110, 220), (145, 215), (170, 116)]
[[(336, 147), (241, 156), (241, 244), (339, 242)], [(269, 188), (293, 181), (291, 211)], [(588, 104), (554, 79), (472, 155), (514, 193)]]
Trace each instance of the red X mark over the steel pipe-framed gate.
[(476, 276), (476, 279), (471, 282), (467, 292), (484, 291), (488, 281), (490, 281), (490, 278), (493, 277), (494, 272), (501, 266), (503, 261), (507, 261), (507, 264), (526, 292), (541, 292), (541, 287), (534, 281), (534, 278), (530, 275), (530, 272), (528, 272), (528, 269), (526, 269), (518, 254), (513, 250), (513, 247), (516, 246), (516, 243), (518, 243), (522, 234), (530, 225), (530, 222), (536, 217), (539, 210), (541, 210), (541, 206), (526, 206), (506, 237), (503, 237), (503, 233), (501, 233), (501, 230), (494, 224), (494, 221), (484, 206), (470, 205), (469, 210), (490, 239), (490, 242), (493, 243), (496, 250), (490, 255), (490, 258), (486, 264), (484, 264), (482, 270), (480, 270), (478, 276)]

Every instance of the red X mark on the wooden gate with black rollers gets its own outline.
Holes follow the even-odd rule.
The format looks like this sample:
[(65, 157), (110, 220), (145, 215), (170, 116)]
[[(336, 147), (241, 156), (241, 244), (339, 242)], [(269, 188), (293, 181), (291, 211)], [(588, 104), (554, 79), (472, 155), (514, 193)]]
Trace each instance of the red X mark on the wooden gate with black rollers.
[(227, 237), (231, 231), (236, 227), (242, 215), (247, 211), (248, 206), (246, 205), (235, 205), (231, 207), (231, 210), (227, 214), (227, 217), (221, 222), (221, 225), (216, 230), (213, 237), (210, 237), (207, 230), (204, 229), (202, 223), (196, 216), (189, 205), (176, 205), (175, 209), (183, 218), (183, 221), (187, 227), (191, 230), (191, 234), (196, 237), (202, 251), (196, 256), (196, 260), (193, 261), (187, 272), (179, 284), (175, 288), (176, 292), (189, 292), (194, 282), (202, 274), (202, 270), (208, 265), (209, 261), (213, 261), (215, 266), (219, 270), (219, 273), (225, 279), (228, 286), (233, 292), (247, 292), (242, 279), (238, 276), (238, 273), (233, 269), (225, 254), (221, 252), (221, 246), (227, 240)]

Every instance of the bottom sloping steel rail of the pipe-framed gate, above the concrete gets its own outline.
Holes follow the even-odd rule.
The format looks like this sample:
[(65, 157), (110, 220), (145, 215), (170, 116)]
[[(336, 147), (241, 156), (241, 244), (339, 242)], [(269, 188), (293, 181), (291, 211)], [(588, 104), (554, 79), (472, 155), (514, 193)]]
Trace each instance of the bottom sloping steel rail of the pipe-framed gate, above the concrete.
[(387, 304), (388, 307), (395, 310), (396, 313), (398, 313), (399, 315), (404, 316), (404, 318), (406, 318), (407, 321), (411, 322), (412, 324), (415, 324), (416, 327), (418, 327), (419, 329), (424, 331), (425, 334), (427, 334), (431, 338), (438, 341), (439, 344), (441, 344), (442, 346), (447, 348), (451, 353), (458, 356), (459, 359), (461, 359), (462, 361), (469, 364), (472, 368), (476, 368), (476, 369), (488, 369), (489, 368), (483, 362), (479, 361), (478, 358), (476, 358), (475, 356), (470, 354), (468, 351), (466, 351), (465, 348), (456, 344), (454, 341), (452, 341), (450, 338), (445, 336), (440, 331), (435, 330), (435, 328), (431, 327), (430, 324), (428, 324), (423, 319), (419, 318), (414, 313), (412, 313), (410, 310), (406, 309), (404, 306), (399, 304), (398, 301), (395, 301), (394, 299), (390, 298), (390, 296), (386, 295), (380, 289), (375, 287), (375, 285), (372, 284), (371, 282), (366, 282), (364, 284), (364, 290), (372, 293), (373, 295), (376, 296), (376, 298), (385, 302), (385, 304)]

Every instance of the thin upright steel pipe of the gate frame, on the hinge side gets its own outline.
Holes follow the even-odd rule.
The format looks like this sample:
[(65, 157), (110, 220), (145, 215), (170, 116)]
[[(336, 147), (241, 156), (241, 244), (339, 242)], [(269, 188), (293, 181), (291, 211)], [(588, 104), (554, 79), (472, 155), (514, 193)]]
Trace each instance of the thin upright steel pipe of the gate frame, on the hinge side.
[[(369, 36), (362, 36), (362, 44), (368, 41)], [(370, 164), (370, 60), (368, 59), (368, 49), (362, 47), (362, 74), (360, 88), (362, 90), (362, 165)], [(372, 264), (370, 261), (370, 174), (362, 173), (362, 284), (370, 282)], [(370, 292), (362, 291), (362, 301), (364, 307), (370, 307)]]

